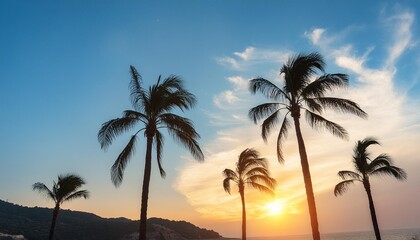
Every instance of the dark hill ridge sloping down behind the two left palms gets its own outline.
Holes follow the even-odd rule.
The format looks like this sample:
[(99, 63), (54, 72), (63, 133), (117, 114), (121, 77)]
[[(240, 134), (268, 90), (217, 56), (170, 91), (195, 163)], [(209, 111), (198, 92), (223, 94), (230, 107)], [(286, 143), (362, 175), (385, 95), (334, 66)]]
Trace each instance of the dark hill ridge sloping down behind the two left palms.
[[(49, 208), (25, 207), (0, 200), (0, 233), (44, 240), (48, 238), (51, 216), (52, 209)], [(147, 221), (148, 239), (222, 238), (213, 230), (199, 228), (185, 221), (161, 218)], [(138, 227), (139, 221), (127, 218), (102, 218), (87, 212), (60, 210), (55, 237), (60, 240), (128, 240), (138, 236)]]

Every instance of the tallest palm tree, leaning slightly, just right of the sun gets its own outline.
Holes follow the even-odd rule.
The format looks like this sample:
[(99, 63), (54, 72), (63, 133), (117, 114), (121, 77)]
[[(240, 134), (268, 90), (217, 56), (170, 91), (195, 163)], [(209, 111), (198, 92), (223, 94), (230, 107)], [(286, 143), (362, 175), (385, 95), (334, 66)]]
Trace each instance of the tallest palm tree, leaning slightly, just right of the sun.
[(320, 234), (308, 157), (300, 128), (301, 111), (305, 112), (306, 120), (312, 128), (326, 128), (340, 138), (347, 138), (347, 131), (342, 126), (322, 117), (325, 109), (352, 113), (359, 117), (367, 116), (356, 103), (350, 100), (325, 96), (326, 93), (335, 88), (346, 87), (348, 85), (347, 75), (341, 73), (324, 74), (311, 81), (316, 70), (324, 72), (324, 66), (324, 60), (318, 53), (299, 54), (289, 58), (280, 70), (280, 74), (284, 78), (283, 88), (264, 78), (252, 79), (249, 84), (252, 94), (260, 92), (270, 100), (268, 103), (249, 110), (249, 117), (255, 124), (263, 120), (261, 135), (265, 142), (267, 142), (268, 134), (273, 128), (280, 121), (282, 122), (277, 136), (277, 158), (280, 163), (284, 162), (281, 147), (290, 128), (289, 117), (293, 119), (314, 240), (319, 240)]

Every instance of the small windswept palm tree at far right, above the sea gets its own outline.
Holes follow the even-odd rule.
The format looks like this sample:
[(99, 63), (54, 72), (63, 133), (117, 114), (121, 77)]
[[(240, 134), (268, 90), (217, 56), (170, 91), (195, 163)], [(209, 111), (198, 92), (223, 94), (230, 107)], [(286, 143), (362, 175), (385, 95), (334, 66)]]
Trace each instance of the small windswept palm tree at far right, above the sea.
[(392, 159), (387, 154), (380, 154), (375, 159), (371, 160), (367, 148), (370, 145), (379, 144), (374, 138), (365, 138), (362, 141), (357, 141), (353, 150), (353, 164), (356, 171), (339, 171), (338, 176), (344, 181), (338, 183), (334, 188), (335, 196), (341, 195), (347, 191), (350, 184), (354, 182), (362, 182), (365, 187), (369, 200), (370, 215), (372, 218), (373, 229), (377, 240), (381, 239), (379, 232), (378, 221), (376, 219), (375, 206), (373, 205), (372, 192), (370, 189), (370, 176), (391, 176), (398, 180), (405, 180), (407, 174), (401, 168), (392, 166)]

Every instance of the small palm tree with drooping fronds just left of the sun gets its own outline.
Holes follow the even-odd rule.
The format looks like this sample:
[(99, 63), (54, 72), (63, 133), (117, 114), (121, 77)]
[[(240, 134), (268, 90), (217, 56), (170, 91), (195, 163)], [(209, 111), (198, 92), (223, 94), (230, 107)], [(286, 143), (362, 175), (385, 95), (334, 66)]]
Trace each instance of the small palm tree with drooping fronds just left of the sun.
[(230, 194), (230, 181), (238, 185), (239, 195), (242, 202), (242, 240), (246, 239), (246, 210), (245, 210), (245, 186), (256, 188), (262, 192), (274, 194), (276, 180), (270, 177), (267, 169), (267, 160), (261, 158), (254, 149), (245, 149), (239, 155), (236, 170), (225, 169), (223, 188)]

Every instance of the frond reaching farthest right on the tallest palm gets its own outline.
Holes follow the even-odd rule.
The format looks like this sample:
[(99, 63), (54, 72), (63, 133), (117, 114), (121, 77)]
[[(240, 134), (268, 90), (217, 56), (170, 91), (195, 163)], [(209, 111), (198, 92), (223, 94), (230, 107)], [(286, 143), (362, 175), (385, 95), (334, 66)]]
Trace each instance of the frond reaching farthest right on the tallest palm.
[[(330, 108), (334, 111), (342, 113), (351, 113), (361, 118), (367, 118), (367, 113), (363, 111), (359, 105), (353, 101), (343, 98), (318, 97), (312, 98), (323, 108)], [(309, 106), (309, 105), (308, 105)]]

